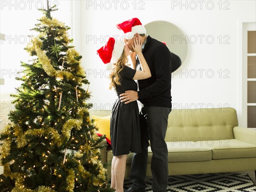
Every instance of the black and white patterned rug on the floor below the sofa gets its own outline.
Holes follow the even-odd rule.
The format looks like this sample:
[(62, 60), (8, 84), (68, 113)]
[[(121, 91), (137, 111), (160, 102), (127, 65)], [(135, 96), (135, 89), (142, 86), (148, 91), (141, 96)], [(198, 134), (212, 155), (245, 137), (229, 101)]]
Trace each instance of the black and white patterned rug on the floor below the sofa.
[[(152, 192), (152, 177), (146, 177), (146, 192)], [(124, 189), (131, 185), (124, 181)], [(166, 192), (256, 192), (248, 174), (210, 173), (169, 176)]]

